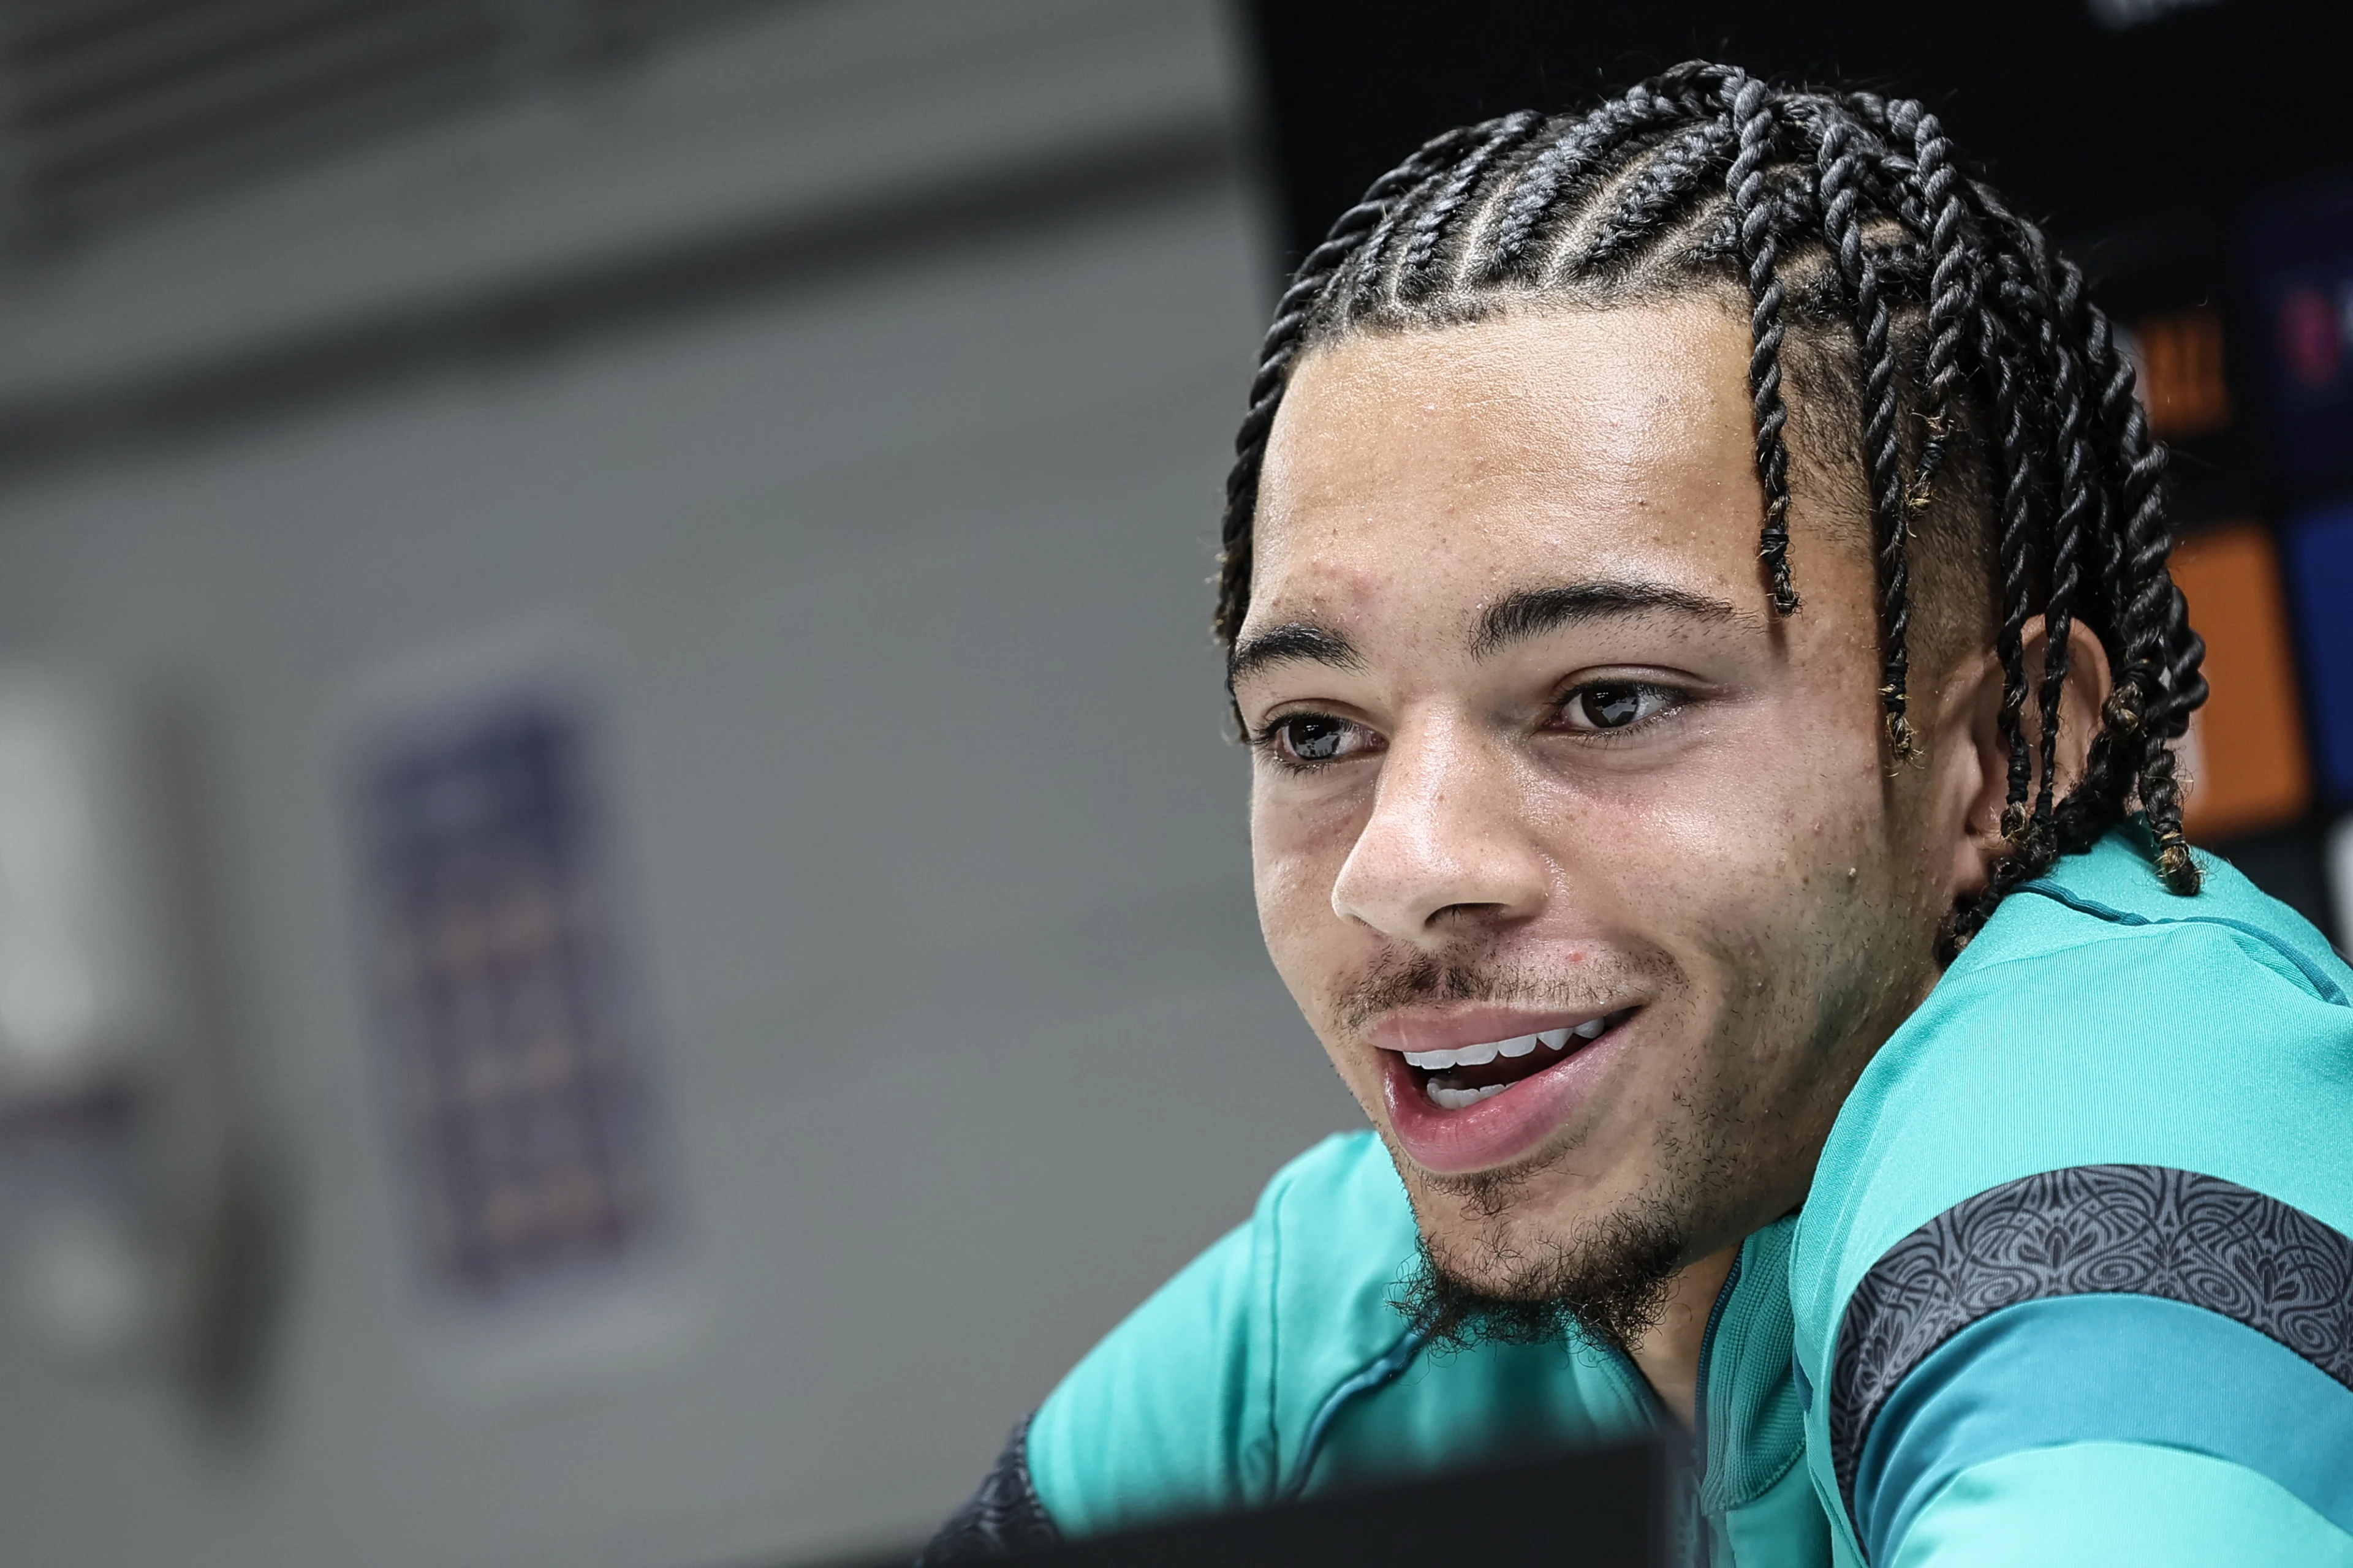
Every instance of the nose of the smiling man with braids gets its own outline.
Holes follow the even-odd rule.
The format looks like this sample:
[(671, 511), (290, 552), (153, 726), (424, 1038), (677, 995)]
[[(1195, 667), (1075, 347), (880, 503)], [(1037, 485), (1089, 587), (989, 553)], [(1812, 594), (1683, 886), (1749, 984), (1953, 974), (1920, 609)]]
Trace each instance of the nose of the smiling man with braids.
[(1372, 813), (1332, 884), (1332, 910), (1400, 943), (1440, 950), (1466, 922), (1534, 914), (1551, 863), (1513, 757), (1478, 726), (1400, 726), (1381, 757)]

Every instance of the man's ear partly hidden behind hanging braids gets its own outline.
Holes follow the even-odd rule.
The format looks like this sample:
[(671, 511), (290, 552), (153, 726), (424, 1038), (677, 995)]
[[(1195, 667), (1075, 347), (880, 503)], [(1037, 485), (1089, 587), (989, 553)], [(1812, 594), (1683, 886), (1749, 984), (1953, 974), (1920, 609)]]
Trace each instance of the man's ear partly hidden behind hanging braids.
[[(2033, 769), (2026, 804), (2033, 809), (2035, 790), (2042, 785), (2042, 670), (2049, 656), (2049, 628), (2042, 616), (2026, 623), (2021, 632), (2026, 651), (2026, 757)], [(2092, 736), (2099, 733), (2101, 708), (2108, 705), (2113, 677), (2108, 672), (2108, 649), (2080, 621), (2068, 625), (2066, 684), (2059, 689), (2059, 748), (2054, 799), (2082, 780), (2085, 762), (2092, 755)], [(1974, 898), (1993, 879), (1993, 863), (2009, 853), (2002, 837), (2002, 809), (2009, 804), (2009, 748), (2002, 743), (2002, 663), (1988, 649), (1955, 675), (1946, 691), (1944, 741), (1946, 750), (1939, 771), (1946, 776), (1946, 820), (1953, 844), (1951, 896), (1953, 903)], [(1932, 752), (1934, 757), (1937, 752)], [(1953, 811), (1951, 806), (1958, 806)]]

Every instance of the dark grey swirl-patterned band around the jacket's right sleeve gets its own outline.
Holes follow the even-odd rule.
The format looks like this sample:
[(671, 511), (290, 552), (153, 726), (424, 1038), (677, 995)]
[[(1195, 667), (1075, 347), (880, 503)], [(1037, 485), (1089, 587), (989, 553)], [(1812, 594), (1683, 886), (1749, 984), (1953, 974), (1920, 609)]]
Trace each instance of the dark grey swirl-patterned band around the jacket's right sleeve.
[(2353, 1389), (2353, 1239), (2195, 1171), (2026, 1175), (1946, 1208), (1854, 1286), (1831, 1363), (1831, 1465), (1847, 1516), (1871, 1422), (1932, 1349), (2002, 1307), (2097, 1293), (2219, 1312)]

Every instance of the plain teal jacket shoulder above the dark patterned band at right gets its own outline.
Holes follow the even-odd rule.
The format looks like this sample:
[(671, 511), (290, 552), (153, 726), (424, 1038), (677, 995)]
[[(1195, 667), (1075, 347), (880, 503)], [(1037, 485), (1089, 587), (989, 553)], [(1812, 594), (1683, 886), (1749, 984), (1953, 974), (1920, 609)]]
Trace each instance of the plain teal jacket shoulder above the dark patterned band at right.
[(2209, 860), (2155, 889), (2129, 846), (2002, 905), (1838, 1114), (1793, 1258), (1800, 1340), (1897, 1241), (2073, 1166), (2195, 1171), (2353, 1229), (2353, 973)]

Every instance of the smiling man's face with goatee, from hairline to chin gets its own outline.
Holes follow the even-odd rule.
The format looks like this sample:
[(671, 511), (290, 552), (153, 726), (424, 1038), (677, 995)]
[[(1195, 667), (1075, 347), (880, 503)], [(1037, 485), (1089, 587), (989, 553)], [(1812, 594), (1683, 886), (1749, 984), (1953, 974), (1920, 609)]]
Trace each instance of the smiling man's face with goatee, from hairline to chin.
[(1951, 790), (1882, 766), (1857, 496), (1800, 484), (1769, 609), (1746, 364), (1708, 299), (1353, 336), (1268, 442), (1259, 919), (1492, 1295), (1795, 1206), (1934, 983)]

